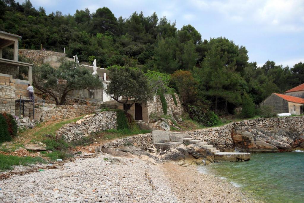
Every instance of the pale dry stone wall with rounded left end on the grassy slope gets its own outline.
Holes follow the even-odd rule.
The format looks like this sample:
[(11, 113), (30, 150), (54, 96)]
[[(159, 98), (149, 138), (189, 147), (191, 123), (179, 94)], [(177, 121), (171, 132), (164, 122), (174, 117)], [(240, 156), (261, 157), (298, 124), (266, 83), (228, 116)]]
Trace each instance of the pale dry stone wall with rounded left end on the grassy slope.
[(57, 136), (67, 142), (76, 141), (108, 129), (117, 128), (116, 111), (102, 111), (83, 117), (75, 123), (65, 124), (57, 131)]

